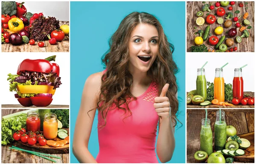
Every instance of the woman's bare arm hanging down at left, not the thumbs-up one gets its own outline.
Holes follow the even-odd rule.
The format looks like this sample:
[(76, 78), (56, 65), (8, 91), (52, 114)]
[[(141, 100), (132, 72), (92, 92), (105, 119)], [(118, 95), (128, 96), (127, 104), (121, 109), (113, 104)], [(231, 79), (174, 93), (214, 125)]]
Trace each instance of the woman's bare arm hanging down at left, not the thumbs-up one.
[[(80, 163), (97, 163), (88, 150), (88, 142), (95, 117), (102, 73), (90, 75), (85, 84), (81, 98), (81, 105), (76, 119), (73, 138), (73, 154)], [(90, 111), (92, 110), (92, 111)], [(88, 114), (87, 112), (90, 111)]]

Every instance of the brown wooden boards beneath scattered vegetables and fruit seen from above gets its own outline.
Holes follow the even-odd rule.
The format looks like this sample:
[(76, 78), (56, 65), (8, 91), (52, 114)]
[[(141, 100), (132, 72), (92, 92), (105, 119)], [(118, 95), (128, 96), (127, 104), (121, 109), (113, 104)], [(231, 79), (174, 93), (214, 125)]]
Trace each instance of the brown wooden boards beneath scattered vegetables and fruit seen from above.
[[(202, 3), (203, 1), (195, 1), (195, 2), (187, 2), (187, 52), (190, 52), (191, 49), (190, 47), (191, 46), (195, 46), (195, 37), (198, 37), (199, 34), (195, 34), (196, 32), (198, 32), (198, 30), (204, 30), (205, 31), (205, 28), (209, 25), (207, 22), (206, 22), (206, 17), (207, 17), (207, 14), (209, 13), (208, 11), (204, 11), (204, 14), (203, 14), (203, 18), (205, 20), (204, 24), (202, 26), (198, 26), (196, 24), (196, 19), (198, 18), (198, 16), (196, 15), (196, 13), (198, 11), (202, 11), (202, 7), (204, 6), (204, 3)], [(209, 1), (205, 1), (206, 3), (210, 3)], [(241, 14), (244, 15), (244, 13), (248, 12), (249, 13), (249, 16), (247, 17), (247, 20), (250, 21), (250, 25), (249, 26), (252, 26), (252, 28), (250, 29), (247, 29), (250, 33), (250, 36), (248, 38), (245, 38), (243, 37), (242, 38), (242, 42), (241, 43), (237, 43), (236, 42), (236, 37), (237, 36), (241, 36), (242, 35), (242, 32), (239, 31), (239, 29), (241, 28), (236, 28), (235, 26), (235, 22), (233, 22), (233, 20), (230, 18), (229, 20), (232, 20), (232, 26), (230, 26), (229, 28), (225, 28), (224, 27), (224, 23), (225, 21), (227, 20), (225, 17), (227, 17), (227, 13), (229, 12), (229, 10), (227, 9), (230, 5), (228, 5), (227, 7), (222, 7), (225, 9), (226, 11), (226, 14), (224, 16), (222, 16), (221, 18), (223, 18), (224, 20), (224, 23), (222, 24), (218, 24), (217, 23), (217, 19), (220, 18), (218, 15), (215, 15), (216, 17), (216, 22), (211, 24), (210, 25), (210, 33), (209, 34), (212, 34), (214, 36), (216, 36), (216, 34), (214, 33), (214, 30), (216, 27), (218, 26), (221, 26), (223, 27), (223, 33), (221, 35), (217, 35), (218, 39), (221, 38), (221, 36), (225, 35), (226, 38), (230, 38), (227, 34), (226, 34), (226, 31), (229, 31), (230, 28), (236, 28), (237, 30), (237, 35), (235, 37), (233, 37), (233, 40), (234, 40), (234, 45), (231, 46), (231, 47), (237, 47), (237, 51), (236, 52), (254, 52), (254, 2), (253, 1), (246, 1), (248, 4), (245, 5), (245, 2), (241, 2), (241, 1), (235, 1), (235, 5), (233, 5), (233, 10), (231, 12), (233, 12), (234, 14), (234, 17), (239, 17)], [(206, 4), (205, 3), (205, 4)], [(211, 1), (212, 5), (215, 6), (215, 3), (216, 1)], [(243, 3), (244, 4), (244, 7), (239, 7), (238, 4), (239, 3)], [(218, 9), (219, 7), (215, 7), (214, 10), (210, 11), (210, 14), (215, 14), (216, 13), (216, 10)], [(248, 9), (246, 9), (248, 8)], [(236, 10), (239, 10), (240, 13), (239, 14), (236, 14), (235, 11)], [(244, 21), (243, 19), (243, 16), (239, 19), (239, 23), (242, 23)], [(241, 24), (241, 26), (245, 26), (243, 23)], [(197, 27), (196, 29), (194, 27)], [(245, 26), (246, 28), (248, 26)], [(210, 36), (209, 36), (210, 37)], [(209, 46), (209, 37), (206, 41), (204, 41), (204, 45), (205, 46)], [(224, 41), (224, 44), (225, 44), (225, 41)], [(212, 46), (212, 45), (210, 45)], [(214, 46), (212, 46), (214, 47)], [(230, 48), (231, 48), (230, 47)], [(212, 48), (211, 48), (212, 49)], [(229, 49), (229, 47), (228, 47)]]

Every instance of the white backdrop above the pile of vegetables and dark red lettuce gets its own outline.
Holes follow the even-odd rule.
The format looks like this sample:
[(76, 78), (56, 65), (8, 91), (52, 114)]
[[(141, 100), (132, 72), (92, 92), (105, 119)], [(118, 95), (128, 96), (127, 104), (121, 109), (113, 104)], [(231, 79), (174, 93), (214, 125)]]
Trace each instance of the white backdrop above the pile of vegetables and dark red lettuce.
[(69, 21), (69, 2), (31, 2), (31, 1), (17, 1), (19, 3), (25, 2), (24, 6), (27, 9), (27, 12), (41, 13), (43, 12), (44, 16), (55, 17), (56, 20), (60, 21)]

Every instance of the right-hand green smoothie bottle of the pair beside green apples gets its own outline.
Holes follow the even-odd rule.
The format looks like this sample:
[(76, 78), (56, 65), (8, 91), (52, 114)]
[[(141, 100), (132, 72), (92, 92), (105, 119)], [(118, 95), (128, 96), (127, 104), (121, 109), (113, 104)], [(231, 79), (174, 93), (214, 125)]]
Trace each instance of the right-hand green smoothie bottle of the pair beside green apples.
[(214, 148), (215, 151), (225, 149), (226, 139), (227, 139), (227, 124), (225, 121), (225, 112), (216, 112), (216, 121), (214, 123)]

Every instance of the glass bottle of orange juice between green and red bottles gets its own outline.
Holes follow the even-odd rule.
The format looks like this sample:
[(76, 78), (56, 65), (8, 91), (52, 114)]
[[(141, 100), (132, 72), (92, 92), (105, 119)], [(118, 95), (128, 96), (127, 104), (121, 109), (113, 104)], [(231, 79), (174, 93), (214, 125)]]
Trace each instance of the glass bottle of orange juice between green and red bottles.
[(215, 69), (215, 79), (214, 79), (214, 99), (218, 102), (224, 102), (224, 78), (222, 73), (222, 68)]

